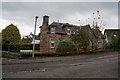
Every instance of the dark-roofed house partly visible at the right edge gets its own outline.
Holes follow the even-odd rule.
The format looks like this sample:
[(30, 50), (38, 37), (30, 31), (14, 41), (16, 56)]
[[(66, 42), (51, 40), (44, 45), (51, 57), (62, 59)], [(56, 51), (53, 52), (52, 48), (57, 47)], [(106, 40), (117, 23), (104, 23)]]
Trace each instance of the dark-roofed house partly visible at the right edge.
[(106, 36), (106, 43), (108, 43), (108, 38), (116, 37), (119, 34), (120, 34), (120, 29), (105, 29), (104, 35)]

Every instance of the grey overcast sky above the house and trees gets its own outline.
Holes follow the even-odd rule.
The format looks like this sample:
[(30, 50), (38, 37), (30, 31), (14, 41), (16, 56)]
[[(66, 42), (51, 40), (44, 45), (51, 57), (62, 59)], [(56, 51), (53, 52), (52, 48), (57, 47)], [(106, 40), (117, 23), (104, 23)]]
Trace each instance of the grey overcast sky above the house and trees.
[(103, 28), (118, 28), (117, 2), (3, 2), (0, 32), (13, 23), (17, 25), (22, 37), (29, 35), (34, 31), (35, 16), (39, 16), (36, 29), (38, 34), (44, 15), (49, 16), (49, 24), (58, 20), (74, 25), (92, 24), (93, 13), (97, 13), (97, 10), (101, 15), (99, 23), (102, 21), (103, 25), (106, 24)]

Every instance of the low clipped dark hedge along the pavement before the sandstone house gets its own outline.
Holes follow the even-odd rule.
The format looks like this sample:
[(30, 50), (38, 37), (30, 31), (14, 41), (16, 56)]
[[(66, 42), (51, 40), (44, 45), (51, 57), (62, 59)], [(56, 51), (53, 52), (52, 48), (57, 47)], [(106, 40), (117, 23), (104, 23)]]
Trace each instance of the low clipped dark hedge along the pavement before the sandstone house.
[[(104, 50), (92, 50), (92, 51), (81, 51), (81, 52), (64, 52), (64, 53), (40, 53), (36, 52), (35, 57), (55, 57), (55, 56), (72, 56), (72, 55), (85, 55), (85, 54), (96, 54), (104, 52)], [(32, 52), (20, 53), (22, 58), (32, 57)]]

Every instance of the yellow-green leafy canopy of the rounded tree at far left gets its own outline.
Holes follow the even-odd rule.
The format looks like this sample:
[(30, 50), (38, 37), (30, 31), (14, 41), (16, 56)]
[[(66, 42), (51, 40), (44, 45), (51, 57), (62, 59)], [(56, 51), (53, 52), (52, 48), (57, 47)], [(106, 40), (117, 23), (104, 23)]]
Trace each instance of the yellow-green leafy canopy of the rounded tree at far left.
[(21, 35), (15, 25), (10, 24), (2, 30), (2, 44), (7, 45), (7, 47), (21, 44)]

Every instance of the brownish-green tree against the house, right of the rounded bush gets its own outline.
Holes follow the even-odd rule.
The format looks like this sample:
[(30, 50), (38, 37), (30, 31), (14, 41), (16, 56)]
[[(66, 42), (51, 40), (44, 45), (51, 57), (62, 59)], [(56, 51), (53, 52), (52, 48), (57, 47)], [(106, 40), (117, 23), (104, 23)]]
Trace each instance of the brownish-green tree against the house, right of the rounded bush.
[(84, 49), (89, 45), (89, 35), (83, 29), (77, 30), (71, 37), (71, 40), (77, 45), (77, 47), (83, 47)]

